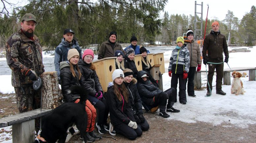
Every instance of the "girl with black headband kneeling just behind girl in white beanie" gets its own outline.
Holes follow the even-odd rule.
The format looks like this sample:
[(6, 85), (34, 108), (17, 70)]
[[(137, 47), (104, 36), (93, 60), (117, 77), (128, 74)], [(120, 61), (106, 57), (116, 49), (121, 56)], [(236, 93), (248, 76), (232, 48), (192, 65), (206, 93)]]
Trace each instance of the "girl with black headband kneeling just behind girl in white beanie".
[(143, 116), (142, 104), (140, 96), (136, 87), (137, 80), (133, 78), (132, 70), (126, 68), (124, 70), (125, 78), (124, 83), (128, 89), (129, 100), (131, 104), (131, 109), (133, 111), (133, 117), (136, 120), (137, 125), (142, 131), (148, 131), (149, 124), (148, 121)]

